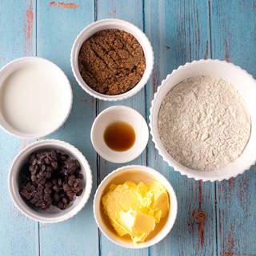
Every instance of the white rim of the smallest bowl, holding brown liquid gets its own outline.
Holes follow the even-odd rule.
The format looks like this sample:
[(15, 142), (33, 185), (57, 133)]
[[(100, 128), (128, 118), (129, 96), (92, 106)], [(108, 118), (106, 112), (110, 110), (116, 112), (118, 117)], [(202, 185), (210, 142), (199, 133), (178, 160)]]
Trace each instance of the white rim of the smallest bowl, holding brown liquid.
[[(145, 146), (143, 145), (141, 150), (139, 150), (137, 154), (131, 154), (130, 158), (125, 161), (120, 161), (120, 160), (118, 160), (118, 158), (117, 159), (110, 158), (108, 155), (104, 154), (102, 152), (102, 150), (98, 146), (95, 145), (95, 140), (94, 140), (94, 130), (95, 130), (94, 128), (97, 125), (99, 118), (101, 118), (104, 114), (106, 114), (112, 110), (116, 110), (116, 109), (123, 110), (123, 111), (131, 111), (134, 114), (137, 114), (142, 119), (142, 122), (147, 129)], [(110, 107), (106, 108), (105, 110), (102, 110), (102, 112), (100, 114), (98, 114), (98, 116), (94, 119), (93, 125), (91, 126), (91, 129), (90, 129), (90, 141), (91, 141), (92, 145), (94, 146), (94, 150), (106, 161), (114, 162), (114, 163), (130, 162), (130, 161), (138, 158), (142, 154), (142, 152), (145, 150), (146, 145), (149, 142), (149, 138), (150, 138), (150, 131), (149, 131), (149, 127), (147, 125), (145, 118), (142, 116), (142, 114), (140, 114), (137, 110), (134, 110), (134, 108), (132, 108), (130, 106), (117, 105), (117, 106), (110, 106)]]

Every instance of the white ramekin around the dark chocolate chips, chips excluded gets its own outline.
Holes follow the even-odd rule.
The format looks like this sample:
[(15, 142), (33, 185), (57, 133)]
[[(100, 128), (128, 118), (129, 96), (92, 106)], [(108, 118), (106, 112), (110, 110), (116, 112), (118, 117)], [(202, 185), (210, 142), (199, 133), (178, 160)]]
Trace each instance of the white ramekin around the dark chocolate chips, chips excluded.
[[(82, 194), (74, 198), (74, 201), (70, 203), (70, 206), (68, 206), (66, 210), (59, 210), (56, 206), (50, 206), (50, 208), (47, 210), (34, 210), (26, 204), (26, 202), (22, 199), (21, 195), (19, 194), (18, 175), (23, 164), (27, 161), (29, 155), (32, 152), (46, 149), (55, 149), (67, 152), (68, 154), (76, 158), (81, 165), (81, 174), (84, 178), (85, 187), (82, 191)], [(92, 188), (92, 175), (90, 166), (86, 161), (86, 158), (78, 149), (76, 149), (74, 146), (70, 145), (67, 142), (49, 139), (34, 142), (29, 146), (26, 146), (16, 156), (16, 158), (14, 158), (14, 162), (10, 167), (8, 182), (10, 196), (14, 202), (14, 205), (18, 208), (18, 210), (22, 212), (22, 214), (25, 214), (26, 217), (31, 218), (38, 222), (54, 223), (63, 222), (68, 218), (73, 217), (80, 210), (82, 210), (82, 207), (90, 198), (90, 191)]]

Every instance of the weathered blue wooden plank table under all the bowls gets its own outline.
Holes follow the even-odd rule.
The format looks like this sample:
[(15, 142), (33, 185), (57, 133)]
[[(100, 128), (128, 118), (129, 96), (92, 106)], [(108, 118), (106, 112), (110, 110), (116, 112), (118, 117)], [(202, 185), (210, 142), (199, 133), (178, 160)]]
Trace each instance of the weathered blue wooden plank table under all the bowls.
[(98, 113), (114, 104), (95, 100), (78, 86), (70, 69), (70, 50), (78, 32), (102, 18), (130, 21), (152, 42), (155, 66), (150, 82), (133, 98), (116, 103), (134, 107), (147, 120), (157, 86), (185, 62), (226, 59), (256, 77), (254, 0), (1, 0), (0, 66), (14, 58), (37, 55), (65, 70), (74, 105), (65, 125), (50, 138), (82, 150), (90, 162), (94, 187), (90, 202), (66, 222), (46, 225), (25, 218), (10, 200), (7, 174), (14, 156), (30, 141), (1, 130), (0, 255), (256, 255), (255, 167), (229, 181), (195, 182), (168, 167), (151, 141), (132, 163), (154, 167), (174, 186), (178, 218), (173, 230), (164, 241), (146, 250), (122, 249), (98, 230), (92, 210), (94, 192), (102, 178), (120, 165), (95, 153), (90, 127)]

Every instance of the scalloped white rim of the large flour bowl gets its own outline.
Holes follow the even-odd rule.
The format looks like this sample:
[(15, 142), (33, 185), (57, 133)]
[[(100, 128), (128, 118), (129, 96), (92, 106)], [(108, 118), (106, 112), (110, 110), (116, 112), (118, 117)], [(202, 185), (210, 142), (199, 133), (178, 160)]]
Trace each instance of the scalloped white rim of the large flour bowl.
[[(178, 66), (177, 69), (174, 69), (170, 74), (167, 74), (166, 78), (162, 80), (161, 85), (158, 86), (158, 90), (154, 93), (154, 98), (151, 101), (151, 106), (150, 106), (150, 135), (152, 137), (152, 141), (154, 142), (154, 146), (156, 148), (156, 150), (158, 150), (158, 154), (162, 157), (162, 159), (167, 162), (167, 164), (173, 168), (174, 171), (179, 172), (180, 174), (182, 174), (183, 176), (186, 176), (187, 178), (194, 178), (194, 180), (201, 180), (202, 182), (221, 182), (222, 180), (228, 180), (230, 178), (235, 178), (237, 177), (239, 174), (243, 174), (246, 170), (249, 170), (251, 166), (253, 166), (256, 162), (256, 156), (253, 162), (249, 162), (243, 169), (244, 170), (240, 170), (237, 174), (230, 174), (230, 175), (226, 175), (226, 177), (223, 175), (222, 177), (205, 177), (202, 175), (202, 172), (198, 171), (197, 175), (191, 174), (190, 170), (193, 171), (192, 169), (190, 169), (189, 167), (186, 166), (182, 166), (182, 164), (176, 162), (176, 160), (174, 158), (172, 158), (170, 155), (167, 158), (166, 155), (162, 152), (161, 150), (161, 146), (158, 145), (158, 141), (155, 138), (154, 135), (154, 128), (153, 128), (153, 123), (155, 122), (153, 120), (153, 114), (154, 114), (154, 106), (156, 104), (156, 98), (158, 97), (158, 94), (160, 93), (160, 91), (162, 90), (163, 86), (165, 86), (166, 80), (170, 79), (170, 77), (175, 74), (177, 71), (179, 70), (183, 70), (185, 69), (187, 66), (191, 66), (194, 65), (196, 63), (202, 63), (202, 62), (214, 62), (214, 63), (225, 63), (227, 65), (233, 66), (234, 69), (239, 70), (240, 72), (242, 72), (243, 74), (245, 74), (250, 80), (252, 80), (252, 82), (254, 82), (254, 84), (256, 85), (256, 81), (254, 80), (253, 76), (251, 74), (249, 74), (246, 70), (243, 70), (242, 67), (234, 65), (234, 63), (231, 62), (226, 62), (225, 60), (219, 60), (219, 59), (212, 59), (212, 58), (207, 58), (207, 59), (200, 59), (200, 60), (194, 60), (192, 62), (186, 62), (184, 65)], [(250, 140), (250, 138), (249, 138)]]

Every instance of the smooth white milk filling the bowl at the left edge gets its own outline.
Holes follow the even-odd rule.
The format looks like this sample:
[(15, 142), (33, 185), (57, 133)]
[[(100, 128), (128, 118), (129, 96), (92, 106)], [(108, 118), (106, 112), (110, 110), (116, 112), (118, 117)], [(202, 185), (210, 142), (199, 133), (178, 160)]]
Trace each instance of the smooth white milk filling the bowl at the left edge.
[(65, 118), (68, 89), (60, 70), (26, 63), (11, 73), (1, 87), (1, 112), (6, 122), (22, 134), (46, 134)]

